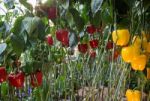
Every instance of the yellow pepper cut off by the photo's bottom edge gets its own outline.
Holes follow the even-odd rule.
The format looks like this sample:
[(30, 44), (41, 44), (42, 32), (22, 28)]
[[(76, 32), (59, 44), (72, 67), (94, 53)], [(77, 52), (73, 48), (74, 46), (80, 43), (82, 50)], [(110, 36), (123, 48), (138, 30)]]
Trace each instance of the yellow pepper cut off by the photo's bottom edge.
[(126, 98), (127, 98), (127, 101), (140, 101), (141, 93), (138, 90), (128, 89), (126, 91)]

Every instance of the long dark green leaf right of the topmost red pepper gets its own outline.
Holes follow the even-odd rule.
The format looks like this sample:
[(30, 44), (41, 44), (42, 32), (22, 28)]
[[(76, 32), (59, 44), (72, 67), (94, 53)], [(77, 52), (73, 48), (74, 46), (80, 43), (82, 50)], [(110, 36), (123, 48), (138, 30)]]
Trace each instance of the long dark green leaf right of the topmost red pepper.
[(76, 24), (78, 31), (79, 32), (82, 31), (84, 28), (84, 24), (85, 24), (84, 19), (80, 17), (80, 13), (74, 8), (70, 9), (70, 13), (73, 16), (73, 19), (74, 19), (74, 22)]

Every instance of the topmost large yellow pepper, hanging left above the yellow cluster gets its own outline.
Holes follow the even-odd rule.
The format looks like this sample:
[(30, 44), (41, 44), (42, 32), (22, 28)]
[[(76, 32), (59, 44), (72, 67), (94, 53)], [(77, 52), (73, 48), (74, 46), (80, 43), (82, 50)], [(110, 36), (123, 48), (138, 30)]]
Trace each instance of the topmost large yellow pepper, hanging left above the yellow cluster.
[(128, 29), (115, 30), (112, 32), (112, 39), (116, 45), (127, 45), (130, 39), (130, 33)]

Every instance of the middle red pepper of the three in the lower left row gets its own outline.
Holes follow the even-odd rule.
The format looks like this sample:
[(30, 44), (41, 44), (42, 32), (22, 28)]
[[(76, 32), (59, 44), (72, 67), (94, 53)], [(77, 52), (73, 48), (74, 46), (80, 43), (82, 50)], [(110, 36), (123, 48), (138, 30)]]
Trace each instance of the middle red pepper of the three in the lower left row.
[(9, 84), (11, 86), (14, 86), (16, 88), (22, 88), (23, 87), (23, 84), (24, 84), (24, 78), (25, 78), (25, 75), (23, 72), (18, 72), (18, 73), (10, 73), (8, 75), (8, 81), (9, 81)]

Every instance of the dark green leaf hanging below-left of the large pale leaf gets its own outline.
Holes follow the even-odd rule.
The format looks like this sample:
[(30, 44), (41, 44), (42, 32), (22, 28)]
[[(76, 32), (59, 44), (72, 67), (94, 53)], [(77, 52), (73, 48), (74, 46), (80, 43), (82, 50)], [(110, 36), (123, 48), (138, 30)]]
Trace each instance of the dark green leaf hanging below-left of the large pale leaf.
[(25, 43), (22, 37), (20, 36), (16, 36), (16, 35), (12, 35), (11, 36), (11, 43), (12, 43), (12, 47), (14, 52), (20, 56), (21, 53), (23, 52), (24, 48), (25, 48)]

